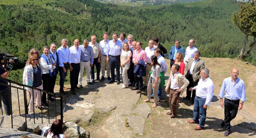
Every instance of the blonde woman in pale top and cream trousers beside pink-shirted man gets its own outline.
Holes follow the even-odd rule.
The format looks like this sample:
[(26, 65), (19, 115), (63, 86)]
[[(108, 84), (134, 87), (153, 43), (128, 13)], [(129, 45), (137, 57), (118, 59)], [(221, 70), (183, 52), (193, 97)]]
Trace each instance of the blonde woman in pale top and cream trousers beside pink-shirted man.
[(129, 44), (127, 42), (124, 43), (123, 45), (123, 50), (121, 53), (121, 67), (123, 69), (122, 77), (123, 77), (123, 82), (124, 85), (122, 88), (127, 88), (128, 87), (128, 74), (127, 71), (130, 68), (130, 57), (132, 56), (132, 52), (129, 49)]

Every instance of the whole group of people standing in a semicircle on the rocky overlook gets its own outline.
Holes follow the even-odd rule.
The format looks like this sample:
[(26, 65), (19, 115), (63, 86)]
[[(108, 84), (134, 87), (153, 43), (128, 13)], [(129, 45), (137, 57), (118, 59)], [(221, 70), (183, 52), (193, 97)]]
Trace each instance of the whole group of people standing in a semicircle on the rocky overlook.
[[(148, 47), (143, 49), (142, 42), (133, 41), (132, 35), (128, 35), (126, 39), (124, 32), (120, 34), (120, 38), (117, 33), (114, 33), (112, 40), (108, 39), (108, 35), (108, 33), (104, 33), (100, 43), (96, 42), (95, 35), (91, 36), (91, 41), (84, 39), (83, 45), (80, 45), (79, 39), (75, 39), (74, 45), (71, 47), (68, 47), (67, 39), (62, 39), (62, 45), (58, 49), (56, 43), (51, 43), (50, 47), (44, 46), (42, 55), (38, 49), (31, 49), (24, 68), (23, 83), (54, 92), (56, 76), (59, 73), (59, 92), (66, 95), (64, 81), (69, 68), (71, 93), (76, 95), (76, 89), (83, 88), (84, 68), (86, 69), (86, 82), (89, 85), (94, 84), (95, 81), (103, 81), (105, 69), (109, 83), (114, 83), (116, 80), (119, 85), (121, 66), (124, 83), (122, 88), (132, 87), (131, 90), (136, 90), (136, 93), (147, 89), (148, 97), (144, 102), (154, 99), (152, 107), (156, 107), (157, 102), (162, 99), (162, 88), (165, 85), (164, 74), (167, 71), (167, 65), (164, 57), (169, 55), (171, 72), (165, 91), (169, 93), (170, 112), (167, 114), (171, 118), (176, 117), (176, 105), (179, 103), (179, 97), (186, 91), (186, 97), (183, 99), (191, 100), (191, 103), (194, 104), (194, 117), (188, 123), (199, 123), (195, 130), (204, 128), (206, 109), (212, 100), (214, 85), (209, 77), (209, 69), (205, 68), (204, 61), (200, 59), (200, 52), (194, 47), (194, 39), (189, 40), (186, 50), (180, 46), (180, 41), (176, 40), (175, 45), (167, 54), (167, 50), (159, 43), (158, 37), (149, 40)], [(96, 78), (94, 66), (96, 66)], [(7, 68), (6, 71), (1, 69), (0, 71), (1, 76), (7, 78), (10, 69)], [(229, 134), (230, 121), (235, 118), (237, 111), (242, 109), (246, 100), (244, 82), (237, 76), (238, 69), (232, 69), (231, 77), (223, 81), (220, 90), (220, 106), (225, 108), (225, 119), (221, 123), (221, 126), (226, 127), (225, 136)], [(32, 93), (32, 89), (26, 89), (31, 93), (29, 103), (31, 112), (34, 111), (33, 106), (41, 110), (43, 110), (42, 106), (48, 106), (46, 93), (40, 93), (37, 90)], [(2, 91), (0, 89), (1, 93)], [(225, 104), (222, 100), (223, 96)], [(3, 97), (2, 94), (1, 97)], [(36, 100), (35, 105), (34, 100)], [(48, 95), (48, 100), (54, 100), (54, 97)], [(7, 109), (6, 111), (6, 114), (9, 114)], [(200, 121), (199, 115), (201, 116)]]

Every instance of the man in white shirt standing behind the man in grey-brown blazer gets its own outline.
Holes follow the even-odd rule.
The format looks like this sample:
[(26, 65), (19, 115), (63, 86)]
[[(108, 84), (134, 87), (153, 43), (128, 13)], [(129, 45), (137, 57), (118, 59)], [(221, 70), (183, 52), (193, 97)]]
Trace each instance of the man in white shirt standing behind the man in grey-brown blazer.
[(189, 43), (188, 43), (188, 47), (186, 48), (185, 57), (184, 57), (184, 60), (183, 60), (183, 62), (185, 64), (185, 68), (188, 65), (188, 59), (190, 57), (194, 57), (195, 51), (198, 51), (198, 49), (196, 47), (194, 47), (194, 43), (195, 43), (195, 40), (190, 39)]

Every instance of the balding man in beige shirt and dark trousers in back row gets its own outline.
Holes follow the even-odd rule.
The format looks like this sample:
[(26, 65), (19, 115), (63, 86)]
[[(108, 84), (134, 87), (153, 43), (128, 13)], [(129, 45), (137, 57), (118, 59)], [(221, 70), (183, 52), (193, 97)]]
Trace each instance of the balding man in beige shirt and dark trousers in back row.
[(97, 81), (102, 81), (100, 79), (100, 56), (101, 56), (101, 47), (100, 47), (100, 44), (96, 42), (96, 36), (95, 35), (92, 35), (91, 36), (91, 42), (89, 43), (89, 45), (92, 47), (93, 49), (93, 64), (92, 64), (92, 67), (91, 67), (91, 79), (92, 79), (92, 83), (94, 83), (94, 79), (95, 79), (95, 76), (94, 76), (94, 65), (96, 66), (96, 80)]

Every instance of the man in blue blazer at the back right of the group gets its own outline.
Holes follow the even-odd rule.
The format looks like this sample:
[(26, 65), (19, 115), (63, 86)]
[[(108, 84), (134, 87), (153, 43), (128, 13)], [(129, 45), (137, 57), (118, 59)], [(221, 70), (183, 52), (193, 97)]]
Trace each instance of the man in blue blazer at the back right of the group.
[(183, 58), (184, 58), (185, 50), (183, 47), (180, 46), (180, 41), (176, 40), (175, 45), (171, 47), (170, 52), (169, 52), (168, 59), (170, 59), (170, 68), (172, 68), (172, 64), (174, 64), (175, 57), (178, 52), (183, 53)]

